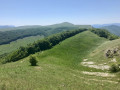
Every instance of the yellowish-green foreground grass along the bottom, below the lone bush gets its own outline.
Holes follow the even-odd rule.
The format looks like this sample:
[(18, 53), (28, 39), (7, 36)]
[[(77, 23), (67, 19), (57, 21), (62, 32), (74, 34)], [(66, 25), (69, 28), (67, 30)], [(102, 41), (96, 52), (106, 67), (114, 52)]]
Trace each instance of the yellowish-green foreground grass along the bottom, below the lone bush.
[[(29, 66), (27, 60), (0, 68), (0, 88), (7, 90), (113, 90), (119, 89), (110, 78), (89, 76), (55, 64)], [(108, 81), (107, 81), (108, 80)], [(113, 81), (113, 80), (112, 80)]]

